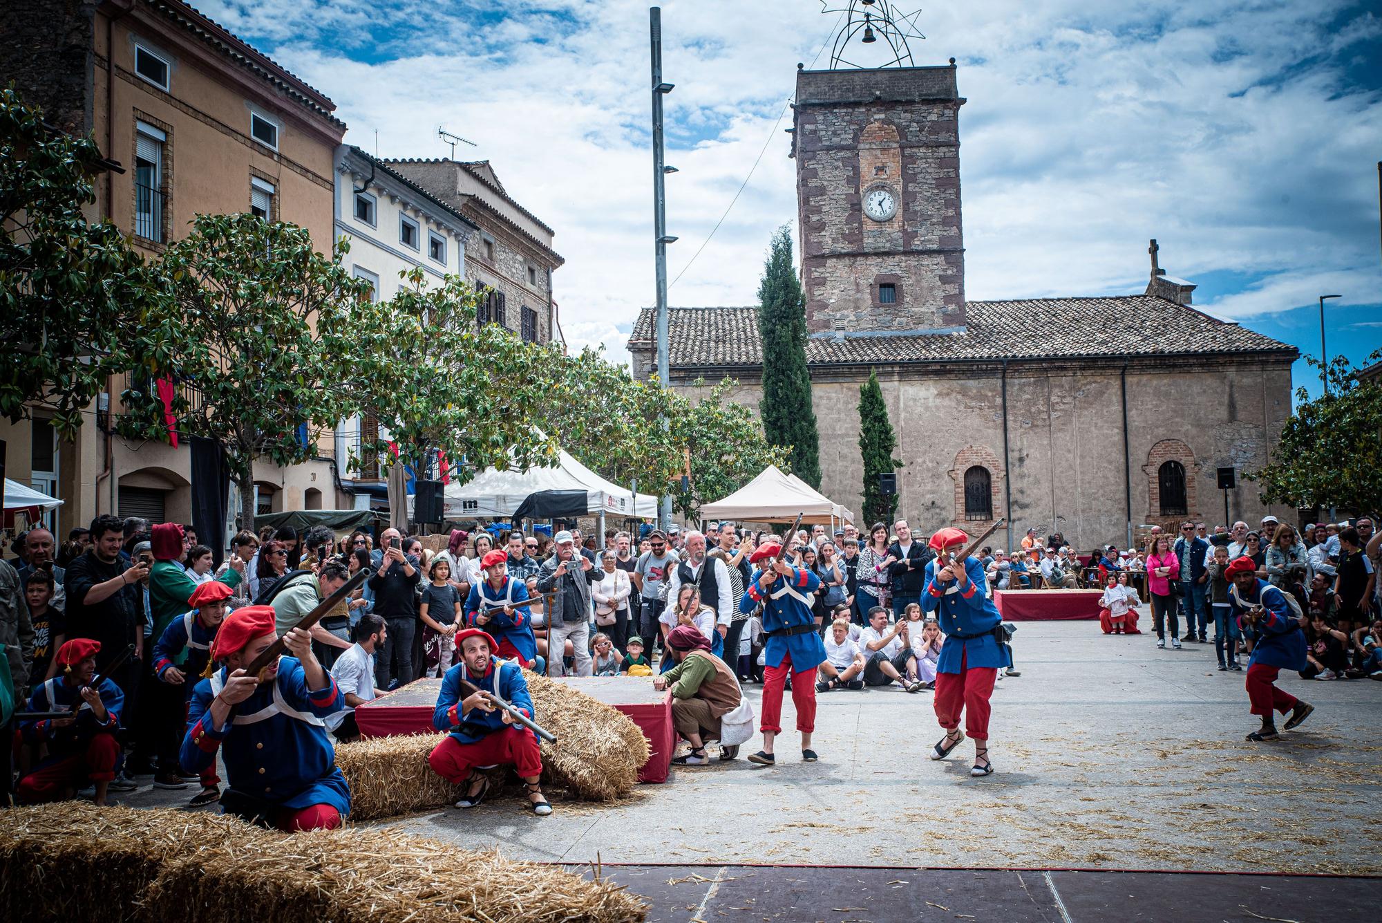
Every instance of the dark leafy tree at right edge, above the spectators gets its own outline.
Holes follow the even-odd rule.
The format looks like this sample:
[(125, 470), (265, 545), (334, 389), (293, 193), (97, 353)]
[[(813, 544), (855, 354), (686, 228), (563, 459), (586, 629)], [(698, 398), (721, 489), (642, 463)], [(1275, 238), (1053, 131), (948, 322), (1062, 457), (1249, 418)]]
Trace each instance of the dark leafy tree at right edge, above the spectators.
[[(1368, 356), (1382, 358), (1382, 351)], [(1320, 368), (1320, 362), (1306, 356)], [(1328, 392), (1310, 401), (1296, 391), (1296, 409), (1281, 430), (1271, 462), (1244, 477), (1260, 486), (1263, 503), (1352, 513), (1382, 508), (1382, 383), (1363, 381), (1346, 359), (1327, 370)]]

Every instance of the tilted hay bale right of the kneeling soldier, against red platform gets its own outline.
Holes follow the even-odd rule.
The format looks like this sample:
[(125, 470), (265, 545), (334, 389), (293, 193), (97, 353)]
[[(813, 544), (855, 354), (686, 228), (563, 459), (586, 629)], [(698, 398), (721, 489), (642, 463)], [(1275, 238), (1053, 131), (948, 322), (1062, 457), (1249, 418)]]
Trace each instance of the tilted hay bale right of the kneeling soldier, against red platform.
[(536, 673), (524, 673), (538, 723), (557, 735), (542, 745), (542, 778), (590, 801), (612, 801), (638, 783), (648, 739), (627, 714)]

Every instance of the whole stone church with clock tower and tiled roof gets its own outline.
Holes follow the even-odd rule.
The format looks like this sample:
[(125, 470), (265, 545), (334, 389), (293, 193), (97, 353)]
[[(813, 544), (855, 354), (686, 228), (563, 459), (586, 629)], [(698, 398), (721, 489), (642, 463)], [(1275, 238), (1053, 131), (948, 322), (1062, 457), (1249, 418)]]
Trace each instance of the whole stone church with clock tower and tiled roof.
[[(1081, 553), (1150, 524), (1266, 513), (1244, 471), (1291, 413), (1295, 347), (1202, 314), (1151, 242), (1142, 293), (969, 301), (959, 95), (949, 66), (797, 70), (797, 240), (821, 491), (862, 499), (860, 386), (876, 370), (897, 432), (898, 515), (930, 532), (1061, 532)], [(1132, 254), (1129, 254), (1132, 257)], [(1140, 257), (1139, 257), (1140, 258)], [(654, 311), (629, 340), (656, 370)], [(728, 376), (757, 409), (756, 307), (670, 308), (670, 381)], [(1216, 474), (1233, 468), (1236, 486)], [(868, 524), (860, 524), (867, 528)]]

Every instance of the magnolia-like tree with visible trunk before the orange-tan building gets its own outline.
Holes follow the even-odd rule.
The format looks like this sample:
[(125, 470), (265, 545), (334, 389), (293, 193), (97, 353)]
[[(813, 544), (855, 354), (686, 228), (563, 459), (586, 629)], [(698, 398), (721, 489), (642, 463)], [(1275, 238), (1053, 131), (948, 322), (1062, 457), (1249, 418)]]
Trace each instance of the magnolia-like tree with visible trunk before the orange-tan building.
[[(343, 383), (362, 356), (321, 334), (346, 329), (369, 293), (340, 256), (318, 253), (303, 228), (247, 213), (198, 216), (163, 256), (174, 297), (146, 323), (167, 339), (162, 354), (146, 356), (144, 374), (131, 376), (120, 427), (166, 438), (155, 383), (170, 379), (177, 431), (225, 448), (242, 528), (254, 526), (256, 459), (311, 460), (323, 428), (357, 406)], [(178, 323), (185, 336), (176, 336)]]

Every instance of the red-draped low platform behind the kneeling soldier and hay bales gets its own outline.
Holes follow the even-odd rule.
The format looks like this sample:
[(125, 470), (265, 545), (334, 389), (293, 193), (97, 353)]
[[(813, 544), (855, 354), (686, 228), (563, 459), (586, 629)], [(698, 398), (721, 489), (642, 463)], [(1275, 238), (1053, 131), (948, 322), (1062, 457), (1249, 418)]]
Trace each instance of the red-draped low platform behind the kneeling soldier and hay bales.
[[(648, 738), (652, 753), (638, 770), (640, 782), (666, 782), (676, 746), (676, 725), (672, 723), (672, 694), (658, 692), (648, 677), (590, 677), (565, 678), (605, 705), (619, 709), (638, 725)], [(401, 734), (434, 734), (431, 716), (437, 706), (441, 680), (424, 678), (399, 687), (388, 695), (355, 709), (355, 723), (363, 736), (397, 736)], [(542, 724), (542, 714), (538, 716)]]

